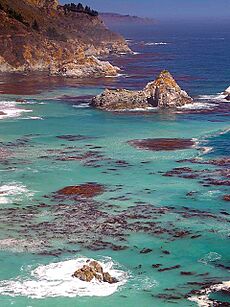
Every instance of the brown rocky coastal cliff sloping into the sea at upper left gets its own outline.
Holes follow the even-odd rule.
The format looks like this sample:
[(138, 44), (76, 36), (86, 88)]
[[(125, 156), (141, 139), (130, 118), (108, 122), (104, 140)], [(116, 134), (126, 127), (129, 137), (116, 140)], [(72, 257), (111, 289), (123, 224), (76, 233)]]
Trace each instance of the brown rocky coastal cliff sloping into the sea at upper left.
[(130, 52), (126, 41), (97, 12), (57, 0), (0, 0), (0, 72), (47, 71), (52, 75), (116, 75), (96, 57)]

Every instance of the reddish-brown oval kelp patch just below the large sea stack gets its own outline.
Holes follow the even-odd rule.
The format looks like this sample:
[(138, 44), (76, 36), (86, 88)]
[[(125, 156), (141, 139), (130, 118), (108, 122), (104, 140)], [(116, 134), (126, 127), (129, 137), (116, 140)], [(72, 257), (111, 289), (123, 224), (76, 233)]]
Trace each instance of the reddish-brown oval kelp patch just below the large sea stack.
[(142, 139), (128, 141), (128, 144), (138, 149), (152, 150), (152, 151), (170, 151), (189, 149), (195, 145), (191, 139), (178, 138), (157, 138), (157, 139)]

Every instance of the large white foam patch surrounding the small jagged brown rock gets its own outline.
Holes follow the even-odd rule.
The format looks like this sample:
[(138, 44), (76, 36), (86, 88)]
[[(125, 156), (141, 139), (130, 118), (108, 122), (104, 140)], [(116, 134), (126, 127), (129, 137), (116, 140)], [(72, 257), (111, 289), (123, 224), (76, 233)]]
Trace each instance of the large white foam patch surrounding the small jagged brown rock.
[(0, 294), (8, 296), (26, 296), (30, 298), (76, 297), (76, 296), (109, 296), (127, 281), (127, 274), (114, 269), (110, 258), (99, 262), (105, 272), (118, 279), (109, 284), (93, 279), (91, 282), (81, 281), (72, 274), (84, 264), (87, 258), (67, 260), (49, 265), (40, 265), (32, 270), (30, 277), (17, 277), (14, 280), (0, 281)]

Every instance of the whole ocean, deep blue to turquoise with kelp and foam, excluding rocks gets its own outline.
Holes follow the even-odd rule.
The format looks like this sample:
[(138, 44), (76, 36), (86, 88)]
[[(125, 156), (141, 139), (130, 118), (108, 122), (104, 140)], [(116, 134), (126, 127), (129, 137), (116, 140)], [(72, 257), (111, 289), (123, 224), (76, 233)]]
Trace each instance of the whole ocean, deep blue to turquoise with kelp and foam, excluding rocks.
[[(230, 303), (229, 24), (114, 30), (134, 51), (108, 57), (117, 78), (0, 76), (1, 307), (214, 306), (206, 292), (216, 285), (210, 299)], [(197, 103), (118, 113), (88, 104), (162, 69)], [(142, 139), (193, 146), (130, 142)], [(100, 193), (60, 194), (84, 184)], [(73, 278), (88, 258), (118, 283)]]

